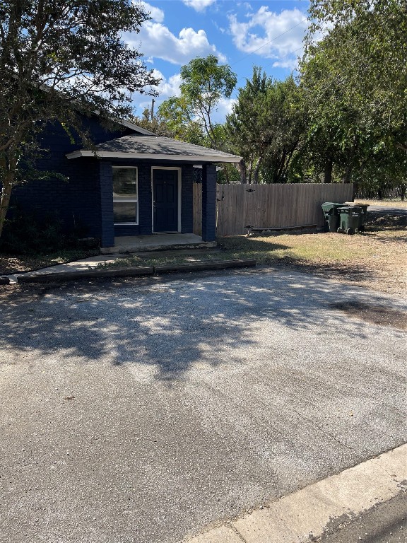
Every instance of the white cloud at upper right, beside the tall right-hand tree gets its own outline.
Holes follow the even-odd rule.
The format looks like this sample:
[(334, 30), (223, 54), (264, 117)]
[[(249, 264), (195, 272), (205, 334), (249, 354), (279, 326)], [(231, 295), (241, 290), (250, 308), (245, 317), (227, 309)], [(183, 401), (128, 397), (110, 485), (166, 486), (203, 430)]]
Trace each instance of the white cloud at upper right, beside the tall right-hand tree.
[[(261, 6), (256, 13), (248, 14), (248, 21), (240, 23), (236, 15), (229, 16), (230, 32), (237, 49), (255, 53), (260, 57), (276, 59), (274, 66), (295, 66), (301, 54), (302, 39), (307, 30), (307, 17), (297, 8), (281, 13)], [(282, 57), (290, 57), (283, 59)], [(285, 62), (278, 62), (278, 59)]]

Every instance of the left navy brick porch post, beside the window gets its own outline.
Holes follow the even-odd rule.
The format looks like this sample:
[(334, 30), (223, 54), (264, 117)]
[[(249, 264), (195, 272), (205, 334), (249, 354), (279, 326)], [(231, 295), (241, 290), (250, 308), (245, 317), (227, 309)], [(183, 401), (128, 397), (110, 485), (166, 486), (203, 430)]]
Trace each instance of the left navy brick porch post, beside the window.
[(114, 247), (113, 170), (110, 162), (100, 162), (100, 245)]

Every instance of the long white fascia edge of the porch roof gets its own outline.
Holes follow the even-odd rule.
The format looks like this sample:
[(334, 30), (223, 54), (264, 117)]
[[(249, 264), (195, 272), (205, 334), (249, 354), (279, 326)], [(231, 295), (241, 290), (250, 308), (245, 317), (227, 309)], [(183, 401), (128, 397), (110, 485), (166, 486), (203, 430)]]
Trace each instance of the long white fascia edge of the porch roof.
[(69, 160), (71, 158), (80, 158), (80, 157), (94, 157), (94, 158), (136, 158), (138, 160), (182, 160), (182, 162), (228, 162), (228, 163), (239, 163), (242, 160), (241, 156), (203, 156), (203, 155), (165, 155), (165, 154), (155, 154), (155, 153), (128, 153), (128, 152), (119, 152), (119, 151), (73, 151), (73, 153), (66, 154), (66, 158)]

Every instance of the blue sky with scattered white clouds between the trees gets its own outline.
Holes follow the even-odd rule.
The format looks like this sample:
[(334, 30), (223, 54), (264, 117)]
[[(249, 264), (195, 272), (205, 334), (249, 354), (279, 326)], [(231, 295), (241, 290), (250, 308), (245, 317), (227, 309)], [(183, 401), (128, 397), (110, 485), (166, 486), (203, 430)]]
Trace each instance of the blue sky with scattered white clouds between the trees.
[[(307, 30), (308, 0), (150, 0), (138, 2), (151, 12), (138, 34), (124, 39), (144, 54), (148, 67), (163, 81), (158, 105), (179, 93), (179, 69), (196, 57), (215, 54), (237, 74), (237, 88), (252, 76), (252, 66), (283, 79), (302, 54)], [(216, 120), (230, 112), (230, 100), (219, 104)], [(134, 96), (135, 114), (141, 116), (151, 98)]]

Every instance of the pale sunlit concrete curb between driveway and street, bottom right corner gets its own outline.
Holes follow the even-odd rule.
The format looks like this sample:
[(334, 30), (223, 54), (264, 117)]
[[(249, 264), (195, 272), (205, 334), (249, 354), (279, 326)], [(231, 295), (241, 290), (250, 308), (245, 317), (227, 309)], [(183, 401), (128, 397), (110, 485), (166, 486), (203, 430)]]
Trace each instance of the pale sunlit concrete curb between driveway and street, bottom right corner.
[(327, 477), (187, 543), (309, 543), (332, 520), (350, 520), (407, 490), (407, 444)]

